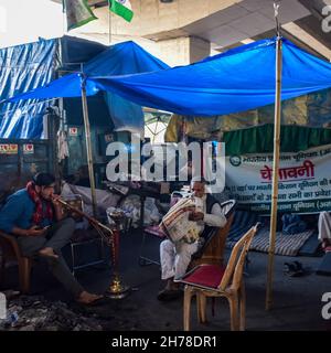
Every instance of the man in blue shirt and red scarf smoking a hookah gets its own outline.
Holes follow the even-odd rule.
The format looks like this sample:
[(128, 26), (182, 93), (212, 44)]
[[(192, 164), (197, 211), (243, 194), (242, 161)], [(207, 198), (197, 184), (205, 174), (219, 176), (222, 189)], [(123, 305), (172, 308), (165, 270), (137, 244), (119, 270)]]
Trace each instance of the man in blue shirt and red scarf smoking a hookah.
[(9, 196), (0, 211), (0, 229), (18, 237), (24, 256), (44, 257), (53, 275), (78, 302), (92, 303), (100, 296), (83, 289), (61, 255), (75, 222), (63, 218), (58, 196), (54, 195), (54, 182), (53, 175), (38, 173), (25, 189)]

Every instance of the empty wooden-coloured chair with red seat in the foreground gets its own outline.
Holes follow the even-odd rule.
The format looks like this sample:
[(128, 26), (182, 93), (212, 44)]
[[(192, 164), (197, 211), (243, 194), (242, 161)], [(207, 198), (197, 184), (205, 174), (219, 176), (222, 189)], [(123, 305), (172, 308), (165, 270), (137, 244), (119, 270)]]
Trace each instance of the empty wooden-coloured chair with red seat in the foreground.
[(178, 282), (185, 285), (183, 321), (184, 331), (190, 330), (191, 300), (196, 296), (197, 318), (206, 322), (206, 298), (225, 297), (229, 303), (231, 330), (244, 331), (246, 317), (246, 296), (244, 285), (244, 264), (258, 224), (252, 227), (234, 246), (227, 266), (199, 265)]

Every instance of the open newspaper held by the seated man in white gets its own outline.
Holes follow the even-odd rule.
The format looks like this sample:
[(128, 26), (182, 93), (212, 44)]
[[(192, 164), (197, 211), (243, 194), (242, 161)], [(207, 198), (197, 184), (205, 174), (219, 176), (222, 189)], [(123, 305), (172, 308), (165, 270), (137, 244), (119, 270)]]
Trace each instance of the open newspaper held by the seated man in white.
[(195, 221), (190, 221), (192, 211), (196, 210), (193, 197), (181, 199), (162, 218), (160, 227), (172, 243), (184, 242), (192, 244), (200, 237), (201, 228)]

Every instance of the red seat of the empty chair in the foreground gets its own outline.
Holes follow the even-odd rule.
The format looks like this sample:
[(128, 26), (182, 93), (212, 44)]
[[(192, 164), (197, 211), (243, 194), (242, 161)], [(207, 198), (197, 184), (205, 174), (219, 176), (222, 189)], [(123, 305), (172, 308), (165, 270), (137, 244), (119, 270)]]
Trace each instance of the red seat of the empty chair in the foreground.
[(216, 289), (225, 272), (225, 266), (200, 265), (189, 272), (181, 282)]

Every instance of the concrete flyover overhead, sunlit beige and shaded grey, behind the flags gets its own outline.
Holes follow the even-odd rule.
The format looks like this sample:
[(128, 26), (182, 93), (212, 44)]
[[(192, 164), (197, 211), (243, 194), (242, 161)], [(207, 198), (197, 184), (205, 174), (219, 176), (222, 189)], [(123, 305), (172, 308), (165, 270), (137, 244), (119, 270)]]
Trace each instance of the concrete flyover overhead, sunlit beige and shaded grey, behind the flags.
[[(52, 0), (62, 2), (62, 0)], [(213, 51), (224, 51), (258, 39), (275, 35), (275, 0), (131, 0), (132, 23), (116, 15), (111, 19), (115, 38), (164, 43), (172, 39), (196, 38), (212, 43)], [(331, 33), (322, 31), (322, 9), (331, 0), (278, 0), (281, 32), (297, 45), (331, 61)], [(107, 1), (88, 0), (99, 18), (76, 32), (98, 38), (109, 30)], [(191, 11), (192, 9), (192, 11)], [(195, 9), (193, 11), (193, 9)], [(330, 23), (331, 24), (331, 23)]]

